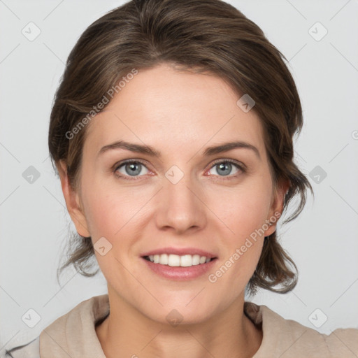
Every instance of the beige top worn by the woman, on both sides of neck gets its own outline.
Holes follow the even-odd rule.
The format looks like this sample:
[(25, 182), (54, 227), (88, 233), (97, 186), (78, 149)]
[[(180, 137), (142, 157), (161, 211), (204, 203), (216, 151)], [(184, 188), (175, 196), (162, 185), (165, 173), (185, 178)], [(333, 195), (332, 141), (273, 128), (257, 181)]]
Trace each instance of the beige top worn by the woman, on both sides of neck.
[[(244, 312), (262, 327), (264, 334), (262, 345), (252, 358), (358, 357), (358, 329), (320, 334), (252, 302), (245, 302)], [(87, 299), (43, 329), (39, 339), (13, 352), (12, 357), (38, 358), (39, 349), (41, 358), (106, 358), (94, 327), (108, 313), (108, 294)]]

